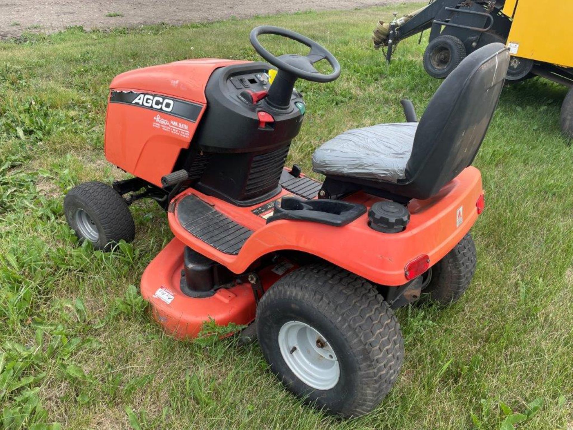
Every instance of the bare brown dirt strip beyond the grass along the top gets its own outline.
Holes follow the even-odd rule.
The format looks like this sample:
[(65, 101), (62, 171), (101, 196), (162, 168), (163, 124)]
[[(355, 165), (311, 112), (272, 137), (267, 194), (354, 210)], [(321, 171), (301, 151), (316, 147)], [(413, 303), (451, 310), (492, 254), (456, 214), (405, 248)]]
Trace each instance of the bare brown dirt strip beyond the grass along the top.
[(22, 32), (53, 33), (69, 26), (85, 29), (134, 27), (146, 24), (186, 24), (231, 17), (295, 12), (301, 10), (353, 9), (414, 0), (289, 0), (245, 2), (240, 0), (0, 0), (0, 38)]

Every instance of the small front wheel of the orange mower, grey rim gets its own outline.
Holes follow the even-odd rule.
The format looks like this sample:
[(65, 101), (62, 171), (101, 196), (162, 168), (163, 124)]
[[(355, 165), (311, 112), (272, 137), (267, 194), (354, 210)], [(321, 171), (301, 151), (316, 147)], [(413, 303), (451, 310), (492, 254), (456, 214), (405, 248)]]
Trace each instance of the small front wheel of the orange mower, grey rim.
[(64, 213), (77, 237), (101, 251), (110, 251), (121, 239), (134, 240), (134, 218), (127, 203), (105, 183), (84, 182), (73, 187), (64, 198)]

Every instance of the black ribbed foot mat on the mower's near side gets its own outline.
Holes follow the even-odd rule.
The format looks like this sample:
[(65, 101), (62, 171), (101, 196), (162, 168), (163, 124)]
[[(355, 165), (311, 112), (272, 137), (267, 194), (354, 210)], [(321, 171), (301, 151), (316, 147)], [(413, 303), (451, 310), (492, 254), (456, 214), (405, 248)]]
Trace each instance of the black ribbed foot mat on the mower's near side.
[(176, 215), (189, 233), (226, 254), (237, 255), (253, 234), (195, 196), (183, 197), (177, 205)]

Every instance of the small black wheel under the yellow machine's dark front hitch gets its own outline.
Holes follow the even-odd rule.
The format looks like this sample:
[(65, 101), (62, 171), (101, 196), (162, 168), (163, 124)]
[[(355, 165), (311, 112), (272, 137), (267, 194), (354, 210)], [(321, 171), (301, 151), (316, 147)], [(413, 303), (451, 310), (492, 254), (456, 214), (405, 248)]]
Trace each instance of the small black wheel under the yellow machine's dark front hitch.
[(424, 68), (431, 77), (444, 79), (466, 57), (464, 42), (456, 36), (438, 36), (424, 52)]

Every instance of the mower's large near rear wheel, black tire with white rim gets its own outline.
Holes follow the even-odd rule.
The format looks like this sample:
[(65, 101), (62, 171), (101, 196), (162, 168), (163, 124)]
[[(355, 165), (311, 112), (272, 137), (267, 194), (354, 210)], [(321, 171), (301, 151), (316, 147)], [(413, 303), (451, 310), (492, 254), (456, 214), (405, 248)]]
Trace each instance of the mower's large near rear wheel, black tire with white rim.
[(375, 287), (326, 264), (296, 269), (265, 292), (257, 337), (287, 389), (346, 417), (382, 401), (403, 358), (400, 327)]

